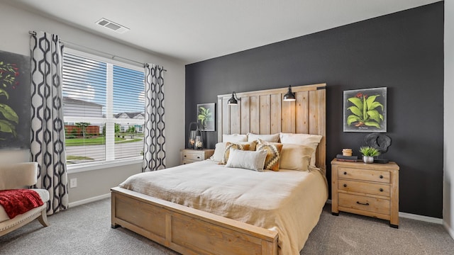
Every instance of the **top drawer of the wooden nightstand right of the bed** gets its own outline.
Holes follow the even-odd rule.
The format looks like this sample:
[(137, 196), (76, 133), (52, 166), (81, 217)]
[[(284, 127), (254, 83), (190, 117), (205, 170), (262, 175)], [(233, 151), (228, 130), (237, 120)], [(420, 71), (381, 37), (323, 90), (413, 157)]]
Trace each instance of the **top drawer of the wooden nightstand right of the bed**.
[(339, 167), (338, 176), (339, 179), (354, 179), (361, 181), (376, 181), (381, 183), (389, 183), (389, 171)]

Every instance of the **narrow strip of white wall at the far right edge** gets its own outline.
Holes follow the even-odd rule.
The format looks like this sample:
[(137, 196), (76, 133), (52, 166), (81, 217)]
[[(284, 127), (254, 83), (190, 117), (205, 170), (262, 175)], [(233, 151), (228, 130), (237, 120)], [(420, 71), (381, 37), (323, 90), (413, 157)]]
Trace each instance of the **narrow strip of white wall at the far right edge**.
[(445, 0), (443, 222), (454, 238), (454, 1)]

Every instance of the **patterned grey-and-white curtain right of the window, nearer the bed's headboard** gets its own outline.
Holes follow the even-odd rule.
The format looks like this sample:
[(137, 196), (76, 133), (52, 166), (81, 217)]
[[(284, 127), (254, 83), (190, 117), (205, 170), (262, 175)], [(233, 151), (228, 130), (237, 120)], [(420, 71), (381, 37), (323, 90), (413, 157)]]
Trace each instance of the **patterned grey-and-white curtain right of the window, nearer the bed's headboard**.
[(164, 68), (145, 64), (143, 171), (165, 169)]

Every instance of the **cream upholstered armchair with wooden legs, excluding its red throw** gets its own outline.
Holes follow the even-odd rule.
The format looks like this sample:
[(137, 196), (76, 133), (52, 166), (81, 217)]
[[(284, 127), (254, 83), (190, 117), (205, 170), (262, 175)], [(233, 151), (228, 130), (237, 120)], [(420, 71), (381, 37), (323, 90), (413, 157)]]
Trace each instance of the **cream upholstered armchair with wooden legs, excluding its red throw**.
[[(0, 165), (0, 191), (28, 188), (36, 183), (38, 164), (36, 162), (26, 162), (13, 164), (10, 166)], [(46, 215), (46, 205), (49, 200), (48, 191), (34, 188), (43, 200), (43, 205), (9, 218), (6, 210), (0, 205), (0, 237), (23, 225), (38, 218), (41, 225), (47, 227), (48, 218)], [(1, 198), (0, 198), (1, 199)]]

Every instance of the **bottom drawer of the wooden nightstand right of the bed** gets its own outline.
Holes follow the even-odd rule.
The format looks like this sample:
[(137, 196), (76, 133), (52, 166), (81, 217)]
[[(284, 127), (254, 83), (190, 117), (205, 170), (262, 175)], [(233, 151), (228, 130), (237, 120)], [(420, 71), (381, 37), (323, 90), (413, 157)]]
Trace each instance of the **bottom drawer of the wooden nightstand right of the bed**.
[(365, 210), (368, 212), (377, 212), (383, 215), (389, 215), (389, 200), (381, 198), (369, 198), (366, 196), (357, 196), (345, 193), (339, 193), (339, 207)]

